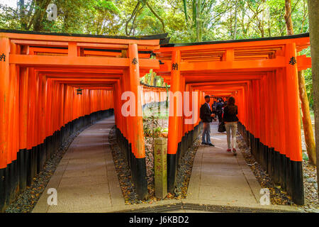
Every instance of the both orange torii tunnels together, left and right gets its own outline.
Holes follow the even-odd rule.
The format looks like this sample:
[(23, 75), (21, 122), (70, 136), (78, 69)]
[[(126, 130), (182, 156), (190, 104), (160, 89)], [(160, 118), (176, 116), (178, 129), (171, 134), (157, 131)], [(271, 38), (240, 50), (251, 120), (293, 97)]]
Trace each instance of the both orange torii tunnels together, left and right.
[[(164, 77), (172, 92), (169, 192), (174, 192), (178, 160), (198, 135), (203, 96), (234, 96), (240, 133), (253, 155), (296, 204), (303, 204), (297, 73), (311, 60), (297, 52), (308, 47), (308, 34), (190, 44), (167, 44), (166, 36), (0, 30), (1, 210), (30, 185), (69, 135), (112, 114), (138, 195), (145, 198), (146, 101), (139, 85), (150, 69)], [(123, 114), (128, 101), (123, 94), (135, 99), (128, 115)], [(190, 113), (183, 111), (185, 100)]]

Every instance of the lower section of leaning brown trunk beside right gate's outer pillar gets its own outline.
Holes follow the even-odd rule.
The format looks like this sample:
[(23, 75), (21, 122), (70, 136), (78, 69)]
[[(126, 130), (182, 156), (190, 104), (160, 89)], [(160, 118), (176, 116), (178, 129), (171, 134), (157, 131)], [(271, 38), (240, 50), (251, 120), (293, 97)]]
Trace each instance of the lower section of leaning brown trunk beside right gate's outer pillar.
[(309, 161), (315, 164), (315, 139), (313, 138), (313, 126), (310, 118), (309, 101), (306, 92), (305, 77), (303, 76), (303, 70), (298, 71), (298, 84), (301, 109), (303, 111), (303, 132), (305, 134), (307, 153)]

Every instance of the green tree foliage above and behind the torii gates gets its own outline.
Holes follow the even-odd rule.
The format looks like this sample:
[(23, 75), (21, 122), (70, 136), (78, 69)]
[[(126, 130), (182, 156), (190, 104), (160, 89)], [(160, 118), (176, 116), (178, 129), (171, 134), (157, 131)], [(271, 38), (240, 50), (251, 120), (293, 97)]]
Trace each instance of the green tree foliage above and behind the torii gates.
[[(99, 35), (169, 33), (172, 43), (286, 35), (284, 0), (18, 0), (0, 4), (0, 28)], [(48, 21), (48, 4), (57, 21)], [(136, 8), (136, 6), (138, 6)], [(135, 10), (136, 8), (136, 10)], [(291, 0), (295, 34), (308, 32), (307, 0)], [(128, 29), (125, 29), (127, 25)], [(126, 31), (127, 30), (127, 31)], [(309, 54), (309, 50), (304, 53)], [(159, 86), (162, 79), (155, 75)], [(152, 84), (150, 74), (143, 82)], [(306, 89), (313, 106), (311, 70)]]

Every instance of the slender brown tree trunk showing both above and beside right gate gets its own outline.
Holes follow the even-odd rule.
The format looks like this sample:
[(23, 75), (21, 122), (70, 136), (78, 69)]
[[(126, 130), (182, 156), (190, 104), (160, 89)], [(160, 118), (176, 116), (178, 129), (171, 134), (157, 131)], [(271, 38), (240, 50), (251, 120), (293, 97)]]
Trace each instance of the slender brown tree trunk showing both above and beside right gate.
[[(285, 20), (287, 27), (287, 35), (293, 35), (293, 21), (291, 19), (291, 0), (285, 0)], [(298, 63), (297, 63), (298, 64)], [(301, 109), (303, 111), (303, 133), (305, 134), (305, 142), (309, 161), (315, 165), (315, 140), (313, 140), (313, 126), (310, 118), (309, 102), (306, 92), (305, 77), (303, 70), (298, 72), (299, 98), (301, 100)]]

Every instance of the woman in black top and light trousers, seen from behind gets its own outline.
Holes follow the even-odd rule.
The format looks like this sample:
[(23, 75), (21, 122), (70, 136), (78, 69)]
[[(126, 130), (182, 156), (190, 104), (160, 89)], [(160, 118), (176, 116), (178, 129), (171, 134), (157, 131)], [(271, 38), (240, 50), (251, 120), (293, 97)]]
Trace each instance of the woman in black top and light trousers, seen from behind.
[[(237, 133), (237, 106), (235, 105), (235, 98), (232, 96), (228, 99), (228, 105), (224, 108), (223, 120), (225, 122), (225, 128), (227, 132), (227, 145), (228, 152), (232, 151), (234, 155), (236, 154), (236, 133)], [(230, 139), (231, 137), (231, 139)]]

